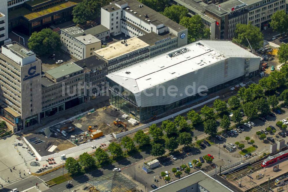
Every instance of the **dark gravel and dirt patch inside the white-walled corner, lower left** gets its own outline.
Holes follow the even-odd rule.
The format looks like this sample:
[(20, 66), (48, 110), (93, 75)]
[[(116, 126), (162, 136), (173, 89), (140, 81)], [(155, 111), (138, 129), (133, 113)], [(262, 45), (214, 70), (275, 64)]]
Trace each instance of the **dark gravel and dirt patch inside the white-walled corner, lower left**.
[[(32, 146), (35, 148), (35, 150), (38, 151), (38, 153), (41, 156), (54, 154), (56, 152), (66, 150), (75, 146), (73, 143), (66, 140), (64, 137), (60, 136), (60, 134), (57, 134), (56, 136), (54, 135), (54, 133), (52, 133), (52, 135), (49, 138), (46, 138), (45, 134), (44, 133), (42, 134), (42, 133), (43, 132), (39, 134), (29, 133), (27, 135), (23, 135), (23, 137), (25, 137), (28, 141), (29, 139), (35, 138), (35, 137), (43, 141), (43, 143), (40, 143), (40, 144), (33, 144), (32, 142), (30, 142), (30, 144), (32, 144)], [(57, 147), (53, 152), (49, 152), (48, 149), (52, 145), (56, 145)]]

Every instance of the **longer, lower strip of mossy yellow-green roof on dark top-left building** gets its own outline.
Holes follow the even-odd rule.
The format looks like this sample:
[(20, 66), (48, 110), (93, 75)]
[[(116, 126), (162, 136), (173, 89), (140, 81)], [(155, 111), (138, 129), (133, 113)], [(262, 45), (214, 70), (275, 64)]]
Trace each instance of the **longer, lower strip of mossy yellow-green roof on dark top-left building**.
[[(37, 1), (40, 1), (40, 0), (37, 0)], [(65, 3), (54, 5), (52, 7), (48, 7), (46, 9), (43, 9), (43, 10), (38, 11), (38, 12), (31, 12), (31, 11), (25, 9), (24, 7), (21, 7), (20, 9), (16, 9), (14, 11), (8, 12), (8, 18), (10, 18), (10, 19), (11, 18), (16, 18), (18, 16), (23, 15), (28, 20), (32, 20), (32, 19), (35, 19), (37, 17), (43, 16), (43, 15), (46, 15), (46, 14), (49, 14), (49, 13), (65, 9), (67, 7), (71, 7), (71, 6), (75, 5), (75, 4), (77, 4), (77, 1), (79, 1), (79, 0), (67, 1)], [(29, 1), (27, 1), (27, 2), (29, 2)]]

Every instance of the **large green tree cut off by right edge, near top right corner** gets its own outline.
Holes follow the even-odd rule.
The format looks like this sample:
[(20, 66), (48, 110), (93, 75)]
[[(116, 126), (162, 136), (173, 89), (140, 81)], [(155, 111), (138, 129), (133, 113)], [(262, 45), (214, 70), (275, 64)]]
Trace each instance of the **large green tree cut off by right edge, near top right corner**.
[(285, 10), (276, 11), (272, 15), (270, 26), (273, 31), (279, 32), (280, 34), (288, 31), (288, 15)]

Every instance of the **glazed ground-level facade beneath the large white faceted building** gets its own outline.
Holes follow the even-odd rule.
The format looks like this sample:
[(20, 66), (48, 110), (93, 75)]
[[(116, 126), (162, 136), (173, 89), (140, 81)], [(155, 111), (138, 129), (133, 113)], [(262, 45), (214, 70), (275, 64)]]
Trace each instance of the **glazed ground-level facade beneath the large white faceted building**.
[[(256, 75), (256, 73), (253, 72), (253, 73), (251, 73), (250, 77), (253, 77), (255, 75)], [(108, 78), (107, 78), (107, 80), (109, 81), (109, 87), (111, 90), (111, 87), (115, 86), (115, 82), (109, 80)], [(214, 86), (214, 87), (208, 89), (208, 92), (206, 92), (206, 93), (209, 95), (209, 94), (217, 92), (221, 89), (230, 87), (230, 86), (235, 85), (237, 83), (240, 83), (243, 80), (245, 80), (245, 76), (241, 76), (239, 78), (233, 79), (233, 80), (225, 82), (223, 84), (219, 84), (217, 86)], [(113, 106), (115, 106), (115, 108), (120, 109), (121, 111), (130, 115), (130, 117), (132, 117), (138, 121), (148, 120), (151, 117), (153, 117), (154, 115), (159, 116), (159, 115), (166, 113), (170, 110), (173, 110), (175, 108), (189, 105), (189, 104), (192, 104), (194, 102), (197, 102), (201, 99), (208, 97), (208, 96), (202, 97), (202, 96), (196, 94), (196, 95), (186, 97), (184, 99), (181, 99), (179, 101), (176, 101), (176, 102), (168, 104), (168, 105), (138, 107), (135, 100), (132, 99), (132, 97), (125, 97), (123, 94), (121, 94), (121, 93), (123, 93), (123, 91), (127, 91), (127, 90), (121, 90), (121, 91), (119, 90), (121, 92), (120, 94), (118, 91), (116, 91), (117, 89), (113, 89), (113, 90), (115, 92), (111, 91), (111, 104)], [(133, 95), (133, 94), (130, 94), (130, 96), (131, 95)]]

